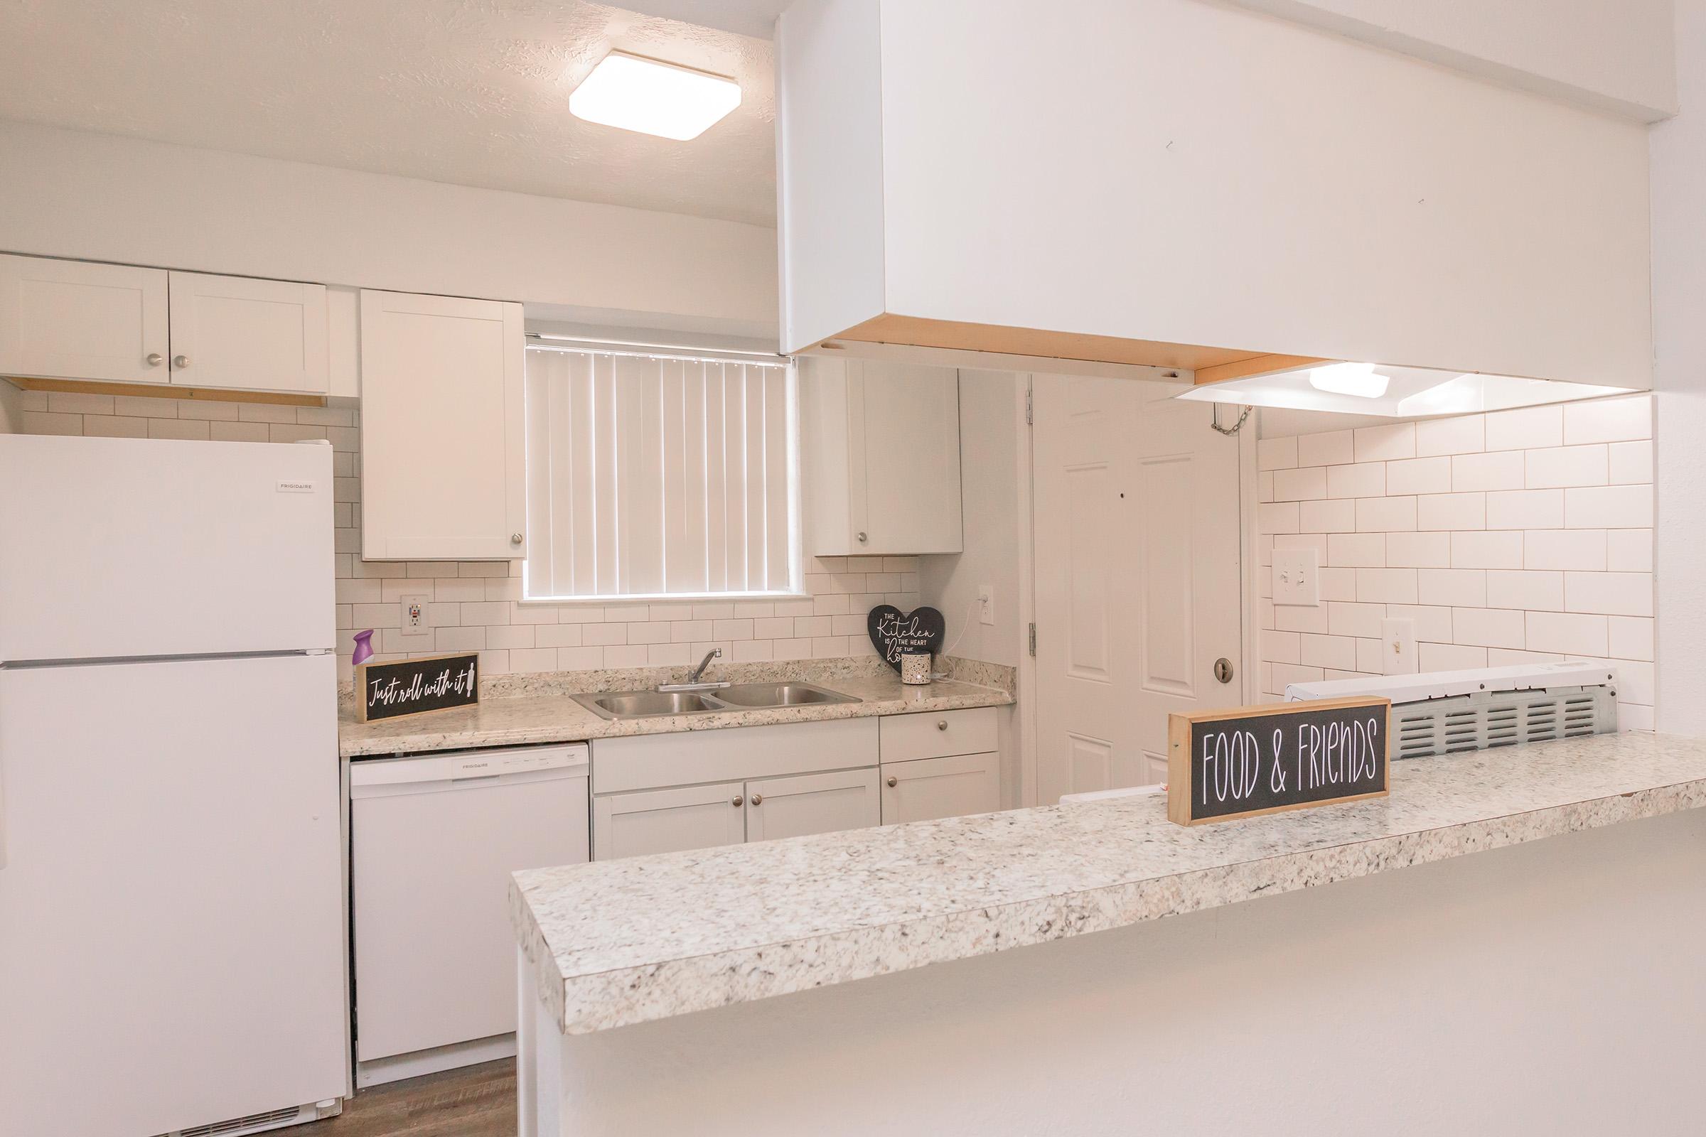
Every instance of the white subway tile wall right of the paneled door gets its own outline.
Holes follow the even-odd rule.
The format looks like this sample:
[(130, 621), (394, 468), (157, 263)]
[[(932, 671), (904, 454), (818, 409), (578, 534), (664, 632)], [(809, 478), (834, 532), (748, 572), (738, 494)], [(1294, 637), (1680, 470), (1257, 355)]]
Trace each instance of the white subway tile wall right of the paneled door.
[[(1419, 670), (1605, 660), (1653, 726), (1651, 395), (1339, 426), (1257, 442), (1262, 692), (1378, 675), (1380, 620)], [(1334, 430), (1336, 428), (1336, 430)], [(1273, 554), (1319, 552), (1319, 607), (1274, 605)]]

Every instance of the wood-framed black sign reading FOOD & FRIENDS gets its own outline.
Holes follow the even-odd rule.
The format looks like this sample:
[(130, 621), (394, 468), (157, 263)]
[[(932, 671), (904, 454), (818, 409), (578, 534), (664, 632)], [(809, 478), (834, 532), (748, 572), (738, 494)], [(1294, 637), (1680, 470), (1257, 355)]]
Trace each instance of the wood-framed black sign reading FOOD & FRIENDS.
[(1319, 699), (1167, 716), (1167, 817), (1181, 825), (1387, 794), (1392, 701)]

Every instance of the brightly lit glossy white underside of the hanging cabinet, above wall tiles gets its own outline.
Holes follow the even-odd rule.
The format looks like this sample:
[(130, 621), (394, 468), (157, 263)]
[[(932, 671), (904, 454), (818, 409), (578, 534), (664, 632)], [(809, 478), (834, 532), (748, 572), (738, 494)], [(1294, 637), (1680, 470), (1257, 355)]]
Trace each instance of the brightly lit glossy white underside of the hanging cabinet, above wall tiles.
[(1322, 361), (1285, 372), (1250, 375), (1249, 378), (1203, 384), (1175, 397), (1291, 411), (1426, 418), (1430, 414), (1472, 414), (1546, 402), (1600, 399), (1631, 390), (1631, 387), (1595, 387), (1549, 378), (1442, 372), (1426, 366)]

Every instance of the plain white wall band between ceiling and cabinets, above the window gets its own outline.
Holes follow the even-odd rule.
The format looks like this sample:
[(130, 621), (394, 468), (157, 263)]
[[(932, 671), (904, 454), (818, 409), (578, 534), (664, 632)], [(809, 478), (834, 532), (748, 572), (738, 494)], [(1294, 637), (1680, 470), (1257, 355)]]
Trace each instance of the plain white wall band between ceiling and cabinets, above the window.
[[(565, 111), (566, 113), (566, 111)], [(776, 234), (0, 123), (0, 251), (776, 327)]]

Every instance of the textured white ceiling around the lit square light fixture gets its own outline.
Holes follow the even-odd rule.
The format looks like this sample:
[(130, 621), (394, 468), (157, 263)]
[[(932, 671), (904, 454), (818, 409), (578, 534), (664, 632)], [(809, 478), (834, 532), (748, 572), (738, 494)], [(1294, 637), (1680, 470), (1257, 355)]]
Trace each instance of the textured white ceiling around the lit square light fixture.
[[(582, 123), (611, 48), (740, 82), (693, 141)], [(771, 44), (578, 0), (0, 0), (0, 118), (773, 225)]]

